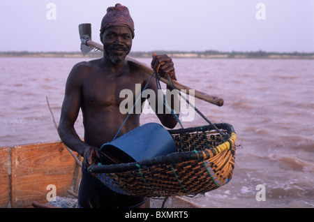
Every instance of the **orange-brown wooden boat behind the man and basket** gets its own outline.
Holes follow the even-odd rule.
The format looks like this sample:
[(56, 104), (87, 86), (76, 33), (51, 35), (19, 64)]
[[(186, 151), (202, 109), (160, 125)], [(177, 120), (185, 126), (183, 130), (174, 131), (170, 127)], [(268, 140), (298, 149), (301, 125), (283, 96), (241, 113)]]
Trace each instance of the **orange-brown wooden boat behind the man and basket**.
[[(58, 196), (66, 197), (69, 190), (77, 193), (80, 178), (80, 166), (62, 142), (0, 147), (1, 208), (45, 207), (50, 184)], [(151, 207), (163, 204), (169, 208), (197, 207), (179, 197), (170, 197), (167, 202), (151, 199)]]

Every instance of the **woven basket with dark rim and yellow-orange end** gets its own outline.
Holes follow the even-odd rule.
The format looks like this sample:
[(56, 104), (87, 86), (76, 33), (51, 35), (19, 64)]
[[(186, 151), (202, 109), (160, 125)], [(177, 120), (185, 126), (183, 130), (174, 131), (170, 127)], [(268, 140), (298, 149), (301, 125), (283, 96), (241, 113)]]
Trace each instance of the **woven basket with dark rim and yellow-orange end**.
[[(177, 152), (113, 165), (91, 165), (89, 172), (117, 193), (146, 197), (197, 195), (230, 182), (236, 134), (230, 124), (169, 130)], [(216, 131), (227, 135), (223, 136)], [(225, 142), (224, 142), (225, 141)]]

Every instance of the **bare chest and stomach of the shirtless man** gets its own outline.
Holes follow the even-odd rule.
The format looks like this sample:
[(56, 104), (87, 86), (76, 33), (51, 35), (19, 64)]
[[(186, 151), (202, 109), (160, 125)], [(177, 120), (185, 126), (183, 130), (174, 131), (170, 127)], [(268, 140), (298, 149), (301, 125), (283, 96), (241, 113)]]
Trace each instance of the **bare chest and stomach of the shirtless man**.
[[(133, 102), (140, 92), (135, 92), (135, 84), (145, 83), (142, 71), (128, 66), (121, 73), (110, 73), (100, 65), (100, 59), (89, 61), (89, 71), (82, 79), (81, 108), (84, 120), (84, 140), (90, 145), (100, 147), (110, 142), (116, 135), (126, 114), (121, 114), (120, 104), (126, 97), (120, 98), (124, 89), (132, 91)], [(133, 104), (133, 103), (130, 103)], [(130, 109), (130, 108), (128, 108)], [(121, 134), (140, 126), (140, 114), (131, 114), (121, 129)]]

